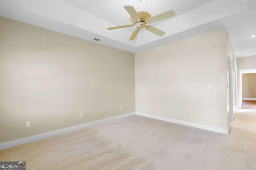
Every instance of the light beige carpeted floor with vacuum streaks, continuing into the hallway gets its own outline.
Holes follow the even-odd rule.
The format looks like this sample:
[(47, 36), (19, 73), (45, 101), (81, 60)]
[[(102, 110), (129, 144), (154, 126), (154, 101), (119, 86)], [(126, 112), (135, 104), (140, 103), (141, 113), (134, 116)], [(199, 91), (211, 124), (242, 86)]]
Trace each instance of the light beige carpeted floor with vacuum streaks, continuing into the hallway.
[(230, 135), (137, 115), (0, 151), (35, 169), (255, 170), (256, 111), (238, 112)]

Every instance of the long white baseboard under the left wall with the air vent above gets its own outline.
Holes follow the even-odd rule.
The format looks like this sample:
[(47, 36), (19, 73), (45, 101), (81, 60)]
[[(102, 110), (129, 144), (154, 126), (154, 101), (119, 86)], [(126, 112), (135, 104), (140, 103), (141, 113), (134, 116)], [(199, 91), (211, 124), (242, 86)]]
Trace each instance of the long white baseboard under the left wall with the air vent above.
[(117, 116), (109, 117), (109, 118), (106, 118), (106, 119), (100, 119), (100, 120), (97, 120), (97, 121), (92, 121), (92, 122), (84, 123), (84, 124), (81, 124), (81, 125), (67, 127), (67, 128), (64, 128), (64, 129), (56, 130), (56, 131), (50, 131), (50, 132), (42, 133), (42, 134), (39, 134), (39, 135), (34, 135), (34, 136), (22, 138), (22, 139), (17, 139), (15, 141), (0, 143), (0, 150), (11, 148), (11, 147), (16, 147), (18, 145), (38, 141), (40, 139), (46, 139), (48, 137), (53, 137), (53, 136), (56, 136), (56, 135), (76, 131), (76, 130), (83, 129), (83, 128), (86, 128), (86, 127), (90, 127), (90, 126), (93, 126), (93, 125), (98, 125), (100, 123), (104, 123), (104, 122), (107, 122), (107, 121), (132, 116), (132, 115), (135, 115), (135, 112), (126, 113), (126, 114), (123, 114), (123, 115), (117, 115)]

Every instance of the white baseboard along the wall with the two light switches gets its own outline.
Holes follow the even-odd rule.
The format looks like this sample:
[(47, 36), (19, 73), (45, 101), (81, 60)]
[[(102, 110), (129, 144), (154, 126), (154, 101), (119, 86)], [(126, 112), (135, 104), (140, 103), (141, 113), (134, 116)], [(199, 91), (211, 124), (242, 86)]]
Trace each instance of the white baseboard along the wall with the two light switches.
[(157, 115), (150, 115), (150, 114), (147, 114), (147, 113), (141, 113), (141, 112), (137, 112), (137, 111), (136, 111), (136, 115), (144, 116), (144, 117), (150, 117), (150, 118), (153, 118), (153, 119), (168, 121), (168, 122), (177, 123), (177, 124), (181, 124), (181, 125), (196, 127), (196, 128), (204, 129), (204, 130), (208, 130), (208, 131), (214, 131), (214, 132), (222, 133), (222, 134), (225, 134), (225, 135), (228, 135), (228, 133), (229, 133), (228, 129), (222, 129), (222, 128), (219, 128), (219, 127), (202, 125), (202, 124), (192, 123), (192, 122), (183, 121), (183, 120), (171, 119), (171, 118), (168, 118), (168, 117), (162, 117), (162, 116), (157, 116)]

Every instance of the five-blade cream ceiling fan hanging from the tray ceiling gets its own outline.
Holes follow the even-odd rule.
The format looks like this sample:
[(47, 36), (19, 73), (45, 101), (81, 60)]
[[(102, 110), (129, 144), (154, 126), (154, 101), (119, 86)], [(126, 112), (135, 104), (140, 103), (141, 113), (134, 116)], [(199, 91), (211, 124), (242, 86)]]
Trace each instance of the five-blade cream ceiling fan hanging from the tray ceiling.
[[(140, 2), (142, 3), (142, 1), (139, 0), (139, 5), (140, 5)], [(164, 12), (162, 14), (158, 14), (156, 16), (151, 17), (151, 15), (148, 12), (146, 12), (146, 10), (136, 12), (136, 10), (134, 9), (133, 6), (124, 6), (124, 9), (130, 14), (130, 21), (132, 22), (132, 24), (122, 25), (122, 26), (118, 26), (118, 27), (110, 27), (110, 28), (108, 28), (108, 30), (132, 27), (132, 26), (136, 25), (136, 29), (134, 30), (134, 32), (132, 33), (132, 36), (129, 39), (130, 41), (134, 40), (136, 38), (136, 36), (138, 35), (140, 29), (143, 29), (144, 27), (146, 30), (148, 30), (160, 37), (163, 36), (165, 34), (164, 31), (157, 29), (156, 27), (153, 27), (151, 25), (146, 25), (146, 24), (153, 23), (156, 21), (165, 20), (165, 19), (172, 18), (175, 16), (174, 10), (170, 10), (170, 11)]]

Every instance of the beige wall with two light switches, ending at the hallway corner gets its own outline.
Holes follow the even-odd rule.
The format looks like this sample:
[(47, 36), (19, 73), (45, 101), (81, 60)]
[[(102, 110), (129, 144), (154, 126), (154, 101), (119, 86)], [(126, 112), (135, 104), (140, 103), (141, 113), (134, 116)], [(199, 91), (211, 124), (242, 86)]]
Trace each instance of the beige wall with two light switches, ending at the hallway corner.
[(136, 53), (136, 111), (227, 129), (226, 36), (219, 29)]

